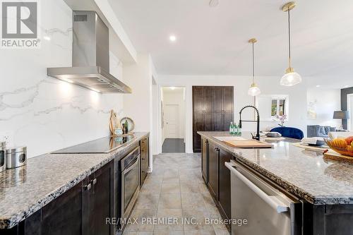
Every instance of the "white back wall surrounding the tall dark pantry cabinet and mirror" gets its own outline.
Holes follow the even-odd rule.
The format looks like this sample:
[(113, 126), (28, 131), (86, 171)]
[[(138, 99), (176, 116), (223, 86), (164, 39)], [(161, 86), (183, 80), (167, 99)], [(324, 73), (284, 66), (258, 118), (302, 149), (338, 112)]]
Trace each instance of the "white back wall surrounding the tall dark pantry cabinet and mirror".
[[(261, 77), (256, 83), (263, 95), (289, 95), (289, 121), (287, 126), (300, 128), (306, 133), (306, 84), (292, 88), (280, 85), (280, 78)], [(193, 85), (232, 85), (234, 86), (234, 120), (239, 121), (239, 110), (247, 104), (253, 104), (253, 98), (247, 92), (251, 77), (246, 76), (159, 76), (160, 86), (186, 87), (186, 152), (192, 152), (192, 86)], [(244, 119), (253, 118), (250, 110), (244, 112)], [(261, 129), (277, 126), (274, 121), (261, 121)], [(256, 131), (256, 124), (244, 123), (244, 131)]]

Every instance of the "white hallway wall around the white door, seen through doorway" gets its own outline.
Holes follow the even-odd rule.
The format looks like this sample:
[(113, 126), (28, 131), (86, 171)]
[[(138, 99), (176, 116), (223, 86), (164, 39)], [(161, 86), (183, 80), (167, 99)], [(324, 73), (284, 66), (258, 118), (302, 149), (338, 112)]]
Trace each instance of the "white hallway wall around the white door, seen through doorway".
[[(178, 88), (177, 90), (170, 90), (169, 88), (162, 88), (163, 93), (163, 109), (164, 116), (166, 116), (166, 105), (167, 104), (177, 104), (179, 107), (179, 136), (177, 138), (185, 138), (185, 100), (184, 100), (184, 88)], [(164, 121), (165, 126), (165, 121)], [(165, 128), (163, 128), (165, 131)], [(166, 133), (163, 133), (164, 138), (162, 143), (166, 138)]]

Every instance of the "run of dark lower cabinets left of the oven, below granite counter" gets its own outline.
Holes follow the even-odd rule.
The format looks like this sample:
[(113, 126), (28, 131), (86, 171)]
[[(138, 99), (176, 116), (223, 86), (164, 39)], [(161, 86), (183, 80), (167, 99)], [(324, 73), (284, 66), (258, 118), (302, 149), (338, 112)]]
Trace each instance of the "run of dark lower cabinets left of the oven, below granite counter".
[(106, 218), (113, 217), (113, 165), (109, 162), (42, 207), (6, 235), (112, 235)]

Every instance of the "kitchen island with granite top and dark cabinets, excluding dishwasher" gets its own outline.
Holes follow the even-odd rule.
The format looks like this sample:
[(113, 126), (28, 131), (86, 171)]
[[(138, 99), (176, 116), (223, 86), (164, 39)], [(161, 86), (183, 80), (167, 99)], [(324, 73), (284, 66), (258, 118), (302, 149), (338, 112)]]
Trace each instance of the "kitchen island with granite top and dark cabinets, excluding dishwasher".
[[(353, 165), (325, 162), (322, 152), (295, 147), (298, 140), (271, 141), (272, 148), (232, 147), (215, 137), (226, 132), (198, 132), (202, 141), (203, 178), (221, 211), (230, 215), (229, 170), (235, 162), (256, 172), (282, 193), (302, 201), (302, 234), (353, 234)], [(250, 133), (242, 137), (250, 138)], [(217, 164), (217, 166), (215, 166)], [(217, 172), (218, 170), (218, 172)]]

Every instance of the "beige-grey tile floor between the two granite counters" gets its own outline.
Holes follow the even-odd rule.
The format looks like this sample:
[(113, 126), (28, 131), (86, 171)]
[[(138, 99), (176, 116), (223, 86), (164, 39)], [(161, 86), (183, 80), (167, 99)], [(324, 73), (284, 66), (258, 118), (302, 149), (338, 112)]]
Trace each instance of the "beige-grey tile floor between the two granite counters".
[[(176, 222), (143, 222), (143, 218), (169, 218)], [(205, 218), (221, 218), (201, 176), (201, 155), (167, 153), (154, 156), (153, 172), (146, 179), (126, 235), (229, 235), (220, 224), (207, 224)], [(192, 219), (191, 219), (192, 218)], [(193, 223), (183, 223), (181, 219)]]

